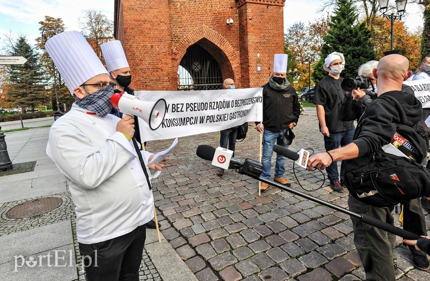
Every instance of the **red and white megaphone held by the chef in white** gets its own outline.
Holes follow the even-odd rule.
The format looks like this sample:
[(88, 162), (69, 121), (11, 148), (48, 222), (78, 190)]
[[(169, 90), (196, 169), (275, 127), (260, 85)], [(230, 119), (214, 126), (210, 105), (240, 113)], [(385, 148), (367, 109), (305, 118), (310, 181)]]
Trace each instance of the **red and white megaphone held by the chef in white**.
[(111, 104), (119, 112), (137, 116), (149, 124), (151, 130), (156, 130), (162, 123), (166, 114), (167, 103), (164, 99), (155, 102), (146, 102), (139, 97), (127, 93), (115, 93), (111, 97)]

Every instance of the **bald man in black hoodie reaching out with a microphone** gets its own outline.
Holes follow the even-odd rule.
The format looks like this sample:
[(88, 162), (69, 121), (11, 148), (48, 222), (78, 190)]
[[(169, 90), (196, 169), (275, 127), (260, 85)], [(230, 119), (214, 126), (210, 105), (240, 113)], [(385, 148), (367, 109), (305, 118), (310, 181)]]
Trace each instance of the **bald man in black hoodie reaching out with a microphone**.
[[(416, 124), (422, 115), (421, 103), (413, 94), (401, 91), (403, 81), (411, 75), (408, 67), (409, 61), (406, 57), (391, 54), (379, 61), (378, 68), (373, 70), (373, 75), (378, 79), (378, 96), (394, 96), (402, 105), (408, 120)], [(369, 155), (391, 142), (397, 123), (400, 120), (401, 117), (394, 105), (389, 104), (384, 99), (375, 99), (364, 112), (352, 143), (345, 147), (310, 157), (308, 169), (310, 170), (314, 167), (325, 169), (335, 160), (348, 160), (358, 157), (367, 159)], [(350, 204), (351, 201), (348, 203)], [(359, 211), (364, 213), (367, 212), (367, 209)], [(386, 214), (388, 215), (384, 218), (384, 221), (393, 224), (391, 212)], [(372, 213), (367, 215), (374, 216)], [(353, 226), (362, 228), (365, 235), (365, 244), (357, 243), (356, 247), (363, 262), (366, 279), (395, 280), (392, 262), (395, 237), (388, 236), (387, 232), (383, 230), (374, 230), (371, 234), (367, 231), (371, 229), (371, 226), (361, 222), (353, 221)], [(356, 243), (356, 239), (354, 242)]]

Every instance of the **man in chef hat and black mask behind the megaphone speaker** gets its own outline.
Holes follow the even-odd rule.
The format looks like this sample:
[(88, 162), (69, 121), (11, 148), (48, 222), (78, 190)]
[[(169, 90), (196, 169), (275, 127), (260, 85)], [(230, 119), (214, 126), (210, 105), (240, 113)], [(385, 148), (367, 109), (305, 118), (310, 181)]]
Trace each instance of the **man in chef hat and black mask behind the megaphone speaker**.
[[(114, 89), (115, 93), (127, 92), (134, 95), (134, 90), (129, 87), (131, 83), (130, 66), (128, 65), (127, 58), (124, 53), (121, 41), (113, 40), (102, 44), (102, 53), (105, 57), (106, 66), (111, 76), (111, 80), (117, 83), (117, 88)], [(116, 108), (112, 108), (112, 114), (122, 118), (122, 113)], [(134, 138), (141, 144), (139, 122), (137, 116), (134, 116)], [(146, 145), (146, 143), (145, 143)], [(146, 228), (155, 229), (155, 222), (150, 220), (145, 224)], [(158, 224), (158, 227), (160, 225)]]

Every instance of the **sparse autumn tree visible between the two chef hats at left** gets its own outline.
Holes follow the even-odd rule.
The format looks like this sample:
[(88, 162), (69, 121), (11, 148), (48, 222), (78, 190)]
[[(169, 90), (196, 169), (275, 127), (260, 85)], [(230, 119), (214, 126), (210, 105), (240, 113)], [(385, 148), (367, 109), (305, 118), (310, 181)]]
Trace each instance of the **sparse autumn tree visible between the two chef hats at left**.
[(114, 23), (96, 10), (84, 10), (79, 17), (82, 34), (87, 38), (100, 60), (104, 63), (101, 45), (112, 37)]

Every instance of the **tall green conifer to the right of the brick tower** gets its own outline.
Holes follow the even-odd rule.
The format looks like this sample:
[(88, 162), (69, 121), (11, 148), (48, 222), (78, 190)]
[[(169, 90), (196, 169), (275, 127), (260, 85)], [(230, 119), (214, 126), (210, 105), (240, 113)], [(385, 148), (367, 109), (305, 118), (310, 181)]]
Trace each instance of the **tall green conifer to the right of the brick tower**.
[(331, 52), (340, 52), (345, 56), (345, 70), (342, 77), (356, 77), (358, 67), (368, 60), (375, 59), (373, 44), (370, 40), (372, 32), (366, 22), (358, 23), (358, 13), (353, 1), (337, 0), (334, 15), (328, 23), (329, 30), (324, 36), (319, 61), (314, 65), (313, 79), (323, 79), (324, 59)]

